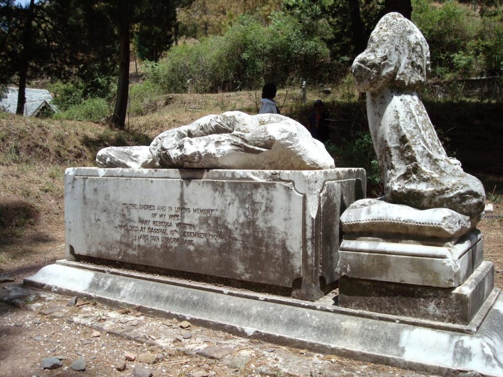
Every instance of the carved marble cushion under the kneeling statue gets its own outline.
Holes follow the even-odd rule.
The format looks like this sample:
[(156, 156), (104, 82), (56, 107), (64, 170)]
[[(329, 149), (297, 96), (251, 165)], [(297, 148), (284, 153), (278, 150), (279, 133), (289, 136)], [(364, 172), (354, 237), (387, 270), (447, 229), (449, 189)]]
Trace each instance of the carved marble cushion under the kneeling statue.
[(347, 235), (393, 239), (457, 240), (470, 229), (470, 219), (447, 208), (417, 210), (377, 199), (353, 203), (341, 216)]

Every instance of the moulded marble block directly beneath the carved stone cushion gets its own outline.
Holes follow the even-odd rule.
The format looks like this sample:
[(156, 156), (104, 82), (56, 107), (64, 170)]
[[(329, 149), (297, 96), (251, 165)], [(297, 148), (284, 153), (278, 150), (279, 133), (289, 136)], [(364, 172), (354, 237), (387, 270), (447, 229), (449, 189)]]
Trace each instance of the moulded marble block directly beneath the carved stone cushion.
[[(480, 231), (451, 244), (418, 244), (403, 240), (344, 235), (337, 273), (341, 276), (439, 288), (458, 287), (483, 258)], [(340, 289), (340, 292), (343, 292)]]

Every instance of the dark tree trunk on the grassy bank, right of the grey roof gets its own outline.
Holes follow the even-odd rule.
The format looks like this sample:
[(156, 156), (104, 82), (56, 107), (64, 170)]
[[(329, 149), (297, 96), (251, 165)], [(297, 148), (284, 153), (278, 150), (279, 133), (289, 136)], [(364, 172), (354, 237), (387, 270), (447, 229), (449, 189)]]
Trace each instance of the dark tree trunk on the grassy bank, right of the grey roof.
[(119, 25), (119, 78), (117, 81), (117, 100), (115, 102), (115, 110), (112, 115), (112, 123), (124, 128), (126, 122), (127, 101), (129, 95), (129, 44), (130, 44), (130, 24), (125, 21)]

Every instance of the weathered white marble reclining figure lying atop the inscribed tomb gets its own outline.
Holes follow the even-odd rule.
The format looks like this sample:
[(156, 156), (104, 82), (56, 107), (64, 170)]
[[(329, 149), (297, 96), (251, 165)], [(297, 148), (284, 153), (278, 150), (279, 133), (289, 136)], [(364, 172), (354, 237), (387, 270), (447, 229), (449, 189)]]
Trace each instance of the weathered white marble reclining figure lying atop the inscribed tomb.
[(277, 114), (208, 115), (165, 131), (148, 147), (105, 148), (102, 167), (316, 170), (334, 168), (304, 126)]

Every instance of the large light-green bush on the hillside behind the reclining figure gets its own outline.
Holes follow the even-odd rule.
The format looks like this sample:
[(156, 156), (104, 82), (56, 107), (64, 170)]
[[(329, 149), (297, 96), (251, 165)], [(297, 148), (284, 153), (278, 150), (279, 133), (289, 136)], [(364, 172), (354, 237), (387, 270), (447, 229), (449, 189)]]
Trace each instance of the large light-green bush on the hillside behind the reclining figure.
[(289, 77), (315, 78), (328, 64), (319, 38), (304, 35), (293, 17), (275, 13), (266, 27), (244, 15), (223, 36), (175, 46), (159, 64), (147, 64), (146, 77), (163, 92), (185, 92), (193, 79), (198, 92), (257, 88)]

